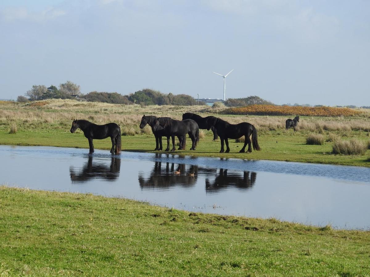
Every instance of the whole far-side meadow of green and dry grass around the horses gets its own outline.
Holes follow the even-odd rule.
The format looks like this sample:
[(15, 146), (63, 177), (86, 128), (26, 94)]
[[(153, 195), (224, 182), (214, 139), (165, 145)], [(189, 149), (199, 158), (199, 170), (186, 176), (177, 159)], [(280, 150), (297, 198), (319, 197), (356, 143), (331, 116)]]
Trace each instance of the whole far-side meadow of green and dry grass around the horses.
[[(203, 137), (196, 151), (176, 151), (195, 156), (228, 157), (300, 161), (311, 163), (358, 165), (370, 167), (370, 151), (363, 155), (334, 155), (331, 137), (344, 140), (356, 138), (363, 143), (370, 140), (370, 113), (356, 117), (301, 117), (299, 131), (285, 131), (282, 116), (233, 116), (220, 115), (219, 109), (205, 106), (147, 106), (113, 105), (105, 103), (84, 103), (73, 100), (47, 100), (30, 104), (1, 102), (0, 144), (28, 146), (59, 146), (88, 148), (87, 139), (81, 132), (71, 134), (74, 118), (87, 119), (97, 124), (116, 122), (120, 124), (122, 148), (126, 151), (148, 151), (155, 147), (154, 136), (147, 126), (139, 129), (142, 114), (170, 116), (181, 119), (184, 112), (196, 112), (202, 116), (214, 115), (231, 123), (250, 122), (258, 130), (262, 151), (239, 154), (242, 143), (229, 140), (231, 153), (220, 154), (220, 141), (212, 141), (212, 133), (202, 130)], [(10, 128), (16, 127), (16, 133)], [(323, 145), (307, 145), (306, 137), (312, 133), (322, 134)], [(163, 140), (165, 143), (165, 140)], [(110, 140), (94, 140), (95, 148), (110, 149)], [(190, 141), (187, 148), (190, 148)]]

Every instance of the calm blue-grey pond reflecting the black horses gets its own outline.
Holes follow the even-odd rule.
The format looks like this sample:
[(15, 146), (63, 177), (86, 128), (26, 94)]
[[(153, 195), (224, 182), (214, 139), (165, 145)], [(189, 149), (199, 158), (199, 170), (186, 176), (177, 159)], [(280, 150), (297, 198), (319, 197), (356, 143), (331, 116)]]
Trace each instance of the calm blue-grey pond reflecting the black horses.
[(87, 152), (0, 146), (0, 184), (120, 196), (193, 212), (370, 228), (370, 168)]

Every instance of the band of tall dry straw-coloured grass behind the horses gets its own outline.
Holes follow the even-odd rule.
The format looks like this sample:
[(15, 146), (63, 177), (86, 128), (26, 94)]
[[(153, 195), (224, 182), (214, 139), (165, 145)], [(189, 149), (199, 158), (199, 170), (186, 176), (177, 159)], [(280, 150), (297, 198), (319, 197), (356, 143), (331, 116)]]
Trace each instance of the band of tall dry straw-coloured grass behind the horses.
[[(32, 103), (42, 103), (31, 105)], [(211, 106), (140, 106), (118, 105), (98, 102), (78, 102), (70, 99), (52, 99), (31, 103), (0, 102), (0, 130), (1, 126), (9, 126), (15, 122), (19, 130), (48, 128), (69, 131), (73, 119), (87, 119), (96, 124), (115, 122), (120, 125), (122, 133), (151, 134), (150, 129), (139, 129), (143, 114), (168, 116), (181, 120), (182, 113), (193, 112), (201, 116), (217, 116), (232, 124), (249, 122), (258, 130), (259, 134), (269, 131), (285, 130), (287, 116), (231, 116), (218, 114), (218, 108)], [(3, 125), (1, 125), (3, 124)], [(6, 125), (4, 125), (6, 124)], [(299, 133), (327, 133), (338, 132), (348, 136), (352, 130), (370, 132), (370, 119), (363, 118), (318, 118), (302, 117), (297, 125)], [(204, 131), (209, 134), (209, 131)]]

